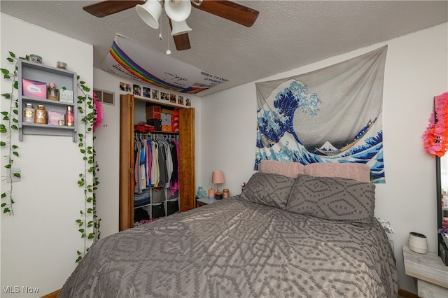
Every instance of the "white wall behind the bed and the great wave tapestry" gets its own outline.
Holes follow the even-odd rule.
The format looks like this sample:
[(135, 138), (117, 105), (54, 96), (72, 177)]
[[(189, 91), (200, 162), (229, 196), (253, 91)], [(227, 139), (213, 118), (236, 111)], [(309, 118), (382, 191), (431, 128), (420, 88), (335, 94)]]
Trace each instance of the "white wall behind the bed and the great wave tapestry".
[[(388, 45), (384, 83), (384, 166), (386, 183), (377, 185), (375, 215), (390, 220), (400, 288), (415, 292), (405, 276), (401, 246), (409, 232), (428, 237), (428, 250), (436, 251), (435, 161), (423, 149), (422, 134), (428, 125), (433, 97), (448, 90), (448, 24), (425, 29), (387, 43), (325, 59), (260, 81), (286, 78)], [(281, 55), (281, 52), (276, 53)], [(211, 94), (201, 99), (200, 134), (202, 167), (199, 184), (211, 184), (211, 171), (222, 169), (230, 195), (241, 191), (255, 161), (255, 84)], [(207, 141), (205, 141), (207, 138)]]

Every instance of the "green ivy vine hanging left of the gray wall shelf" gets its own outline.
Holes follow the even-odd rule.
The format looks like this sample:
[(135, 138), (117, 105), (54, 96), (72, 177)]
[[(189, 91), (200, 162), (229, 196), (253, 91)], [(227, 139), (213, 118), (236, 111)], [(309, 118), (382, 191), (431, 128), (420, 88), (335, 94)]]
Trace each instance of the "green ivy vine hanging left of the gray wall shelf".
[[(1, 208), (3, 209), (3, 213), (8, 213), (9, 215), (14, 215), (13, 210), (13, 178), (20, 178), (20, 173), (13, 173), (11, 168), (13, 166), (13, 156), (19, 157), (18, 146), (11, 143), (11, 136), (13, 131), (18, 131), (18, 115), (19, 115), (19, 103), (18, 98), (14, 99), (13, 92), (14, 90), (18, 90), (18, 58), (15, 57), (13, 52), (9, 52), (9, 57), (6, 58), (8, 62), (14, 63), (14, 71), (11, 73), (8, 69), (0, 69), (3, 74), (3, 79), (11, 80), (11, 90), (8, 93), (1, 94), (5, 99), (10, 100), (9, 111), (1, 111), (1, 115), (3, 116), (2, 123), (0, 124), (0, 133), (6, 135), (6, 139), (8, 141), (4, 141), (3, 138), (0, 141), (0, 146), (6, 147), (7, 154), (4, 156), (6, 159), (5, 168), (8, 169), (8, 175), (2, 176), (2, 182), (5, 180), (9, 180), (8, 189), (6, 192), (1, 192)], [(25, 59), (19, 57), (19, 59)], [(5, 124), (6, 123), (6, 124)]]

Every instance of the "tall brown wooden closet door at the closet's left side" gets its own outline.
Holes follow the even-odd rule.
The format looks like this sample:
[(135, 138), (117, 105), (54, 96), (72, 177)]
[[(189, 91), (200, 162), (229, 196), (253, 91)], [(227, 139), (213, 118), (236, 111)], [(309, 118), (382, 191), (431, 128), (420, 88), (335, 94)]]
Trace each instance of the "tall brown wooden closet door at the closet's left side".
[(120, 231), (134, 227), (134, 95), (120, 94)]

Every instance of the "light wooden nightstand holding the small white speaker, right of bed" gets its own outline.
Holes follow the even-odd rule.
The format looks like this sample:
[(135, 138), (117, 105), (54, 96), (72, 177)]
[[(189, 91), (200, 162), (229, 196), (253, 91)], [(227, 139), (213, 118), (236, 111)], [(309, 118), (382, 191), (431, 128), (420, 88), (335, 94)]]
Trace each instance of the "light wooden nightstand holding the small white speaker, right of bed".
[(436, 253), (414, 253), (402, 247), (405, 274), (417, 278), (417, 294), (422, 298), (448, 297), (448, 266)]

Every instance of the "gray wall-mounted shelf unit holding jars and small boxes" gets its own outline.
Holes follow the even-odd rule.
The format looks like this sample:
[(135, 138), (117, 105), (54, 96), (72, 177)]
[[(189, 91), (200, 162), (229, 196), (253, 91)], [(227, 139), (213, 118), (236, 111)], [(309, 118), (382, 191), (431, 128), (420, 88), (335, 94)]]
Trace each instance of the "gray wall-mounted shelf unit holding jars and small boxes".
[[(53, 82), (57, 86), (57, 89), (66, 87), (66, 90), (73, 91), (73, 102), (55, 101), (50, 99), (39, 99), (35, 97), (27, 97), (23, 95), (22, 79), (37, 80), (40, 82), (48, 83)], [(76, 108), (77, 102), (77, 77), (73, 71), (67, 71), (65, 69), (58, 69), (56, 67), (46, 66), (35, 62), (29, 62), (20, 59), (18, 62), (18, 104), (19, 104), (19, 140), (22, 141), (24, 134), (41, 134), (49, 136), (72, 136), (73, 142), (77, 140), (78, 129), (78, 108)], [(45, 90), (46, 92), (46, 90)], [(67, 106), (73, 107), (73, 113), (75, 115), (74, 126), (59, 126), (48, 124), (37, 124), (31, 122), (23, 122), (23, 108), (25, 104), (33, 104), (34, 108), (38, 104), (43, 104), (45, 110), (65, 113)]]

